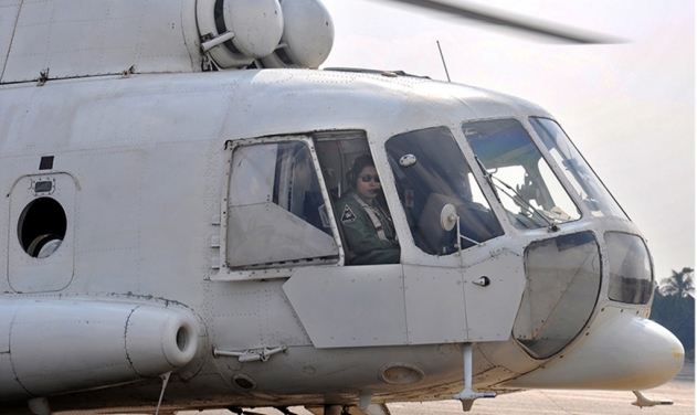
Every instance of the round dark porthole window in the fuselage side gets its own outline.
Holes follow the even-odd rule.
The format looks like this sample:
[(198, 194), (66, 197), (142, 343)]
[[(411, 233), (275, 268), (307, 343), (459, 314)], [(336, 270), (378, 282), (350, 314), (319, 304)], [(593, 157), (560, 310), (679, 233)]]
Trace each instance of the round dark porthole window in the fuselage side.
[(29, 203), (17, 226), (17, 235), (24, 252), (34, 258), (51, 256), (65, 237), (65, 210), (51, 198), (39, 198)]

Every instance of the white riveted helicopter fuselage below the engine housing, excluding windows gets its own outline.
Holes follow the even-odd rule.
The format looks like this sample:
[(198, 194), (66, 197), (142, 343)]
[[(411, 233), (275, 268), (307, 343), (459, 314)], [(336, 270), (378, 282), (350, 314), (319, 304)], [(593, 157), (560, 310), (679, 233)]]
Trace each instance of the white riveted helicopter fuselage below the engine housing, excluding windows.
[[(526, 354), (510, 333), (526, 289), (524, 251), (552, 236), (545, 227), (520, 232), (501, 221), (505, 236), (446, 256), (425, 254), (410, 241), (386, 140), (444, 126), (467, 148), (463, 121), (549, 117), (525, 102), (423, 78), (306, 70), (67, 79), (3, 86), (1, 94), (1, 203), (8, 212), (0, 228), (8, 241), (0, 245), (0, 256), (8, 259), (0, 278), (3, 400), (112, 386), (170, 370), (180, 376), (166, 394), (172, 407), (447, 398), (462, 387), (461, 343), (476, 343), (474, 385), (485, 390), (638, 390), (667, 381), (682, 365), (679, 350), (668, 343), (661, 354), (665, 359), (636, 364), (633, 355), (655, 341), (646, 344), (644, 329), (627, 328), (656, 324), (644, 320), (648, 305), (610, 301), (608, 278), (592, 318), (561, 354), (541, 360)], [(221, 257), (228, 237), (221, 230), (231, 142), (356, 130), (365, 131), (384, 183), (401, 264), (344, 265), (332, 221), (341, 247), (335, 264), (228, 269)], [(41, 169), (47, 156), (53, 166)], [(480, 172), (476, 175), (485, 182)], [(53, 189), (36, 192), (32, 183), (44, 181)], [(482, 189), (496, 200), (492, 189)], [(41, 196), (63, 206), (67, 231), (53, 255), (35, 258), (17, 235), (22, 210)], [(592, 216), (560, 228), (555, 235), (638, 234), (626, 220)], [(490, 286), (473, 284), (483, 275), (492, 278)], [(192, 355), (182, 358), (190, 359), (186, 364), (177, 366), (158, 351), (152, 357), (142, 352), (151, 366), (134, 362), (130, 354), (137, 352), (129, 351), (129, 339), (124, 342), (124, 328), (138, 307), (181, 318), (190, 337), (175, 351)], [(158, 330), (171, 318), (144, 317), (156, 321), (144, 322), (145, 332), (138, 334), (145, 349), (166, 349)], [(606, 330), (619, 321), (646, 339), (621, 344), (623, 338)], [(21, 329), (27, 324), (31, 330)], [(56, 336), (59, 342), (52, 340)], [(44, 342), (55, 345), (36, 360), (32, 348)], [(615, 365), (587, 360), (612, 347), (622, 350)], [(254, 361), (258, 351), (278, 348), (283, 353)], [(241, 362), (225, 352), (247, 353), (252, 360)], [(566, 361), (579, 355), (587, 369), (574, 366), (575, 377), (564, 379), (561, 355)], [(559, 373), (545, 375), (556, 361)], [(113, 364), (104, 368), (104, 362)], [(534, 372), (540, 366), (546, 369)], [(650, 380), (635, 379), (646, 370), (654, 372)], [(116, 406), (144, 405), (155, 402), (159, 381), (122, 387), (136, 392), (119, 396)], [(52, 406), (86, 408), (113, 394), (107, 389), (55, 396)]]

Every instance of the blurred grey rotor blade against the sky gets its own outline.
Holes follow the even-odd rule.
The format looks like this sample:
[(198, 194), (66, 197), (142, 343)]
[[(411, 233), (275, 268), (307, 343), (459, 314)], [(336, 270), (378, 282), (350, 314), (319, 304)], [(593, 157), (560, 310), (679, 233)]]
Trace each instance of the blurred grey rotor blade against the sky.
[(424, 9), (436, 10), (448, 14), (460, 15), (465, 19), (496, 24), (505, 28), (513, 28), (528, 33), (542, 34), (557, 40), (582, 44), (608, 44), (624, 43), (621, 39), (613, 39), (606, 35), (591, 33), (573, 28), (566, 28), (558, 24), (534, 20), (526, 17), (514, 15), (501, 11), (484, 10), (474, 6), (453, 6), (433, 0), (392, 0), (400, 3), (408, 3)]

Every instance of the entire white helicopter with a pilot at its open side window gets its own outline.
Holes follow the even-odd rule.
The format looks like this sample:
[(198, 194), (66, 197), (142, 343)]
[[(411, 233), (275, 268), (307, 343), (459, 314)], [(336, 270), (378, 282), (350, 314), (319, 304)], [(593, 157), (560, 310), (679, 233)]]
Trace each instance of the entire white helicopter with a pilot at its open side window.
[[(551, 114), (315, 70), (314, 0), (103, 6), (0, 8), (0, 413), (666, 403), (640, 392), (684, 361), (646, 241)], [(398, 264), (352, 263), (365, 155)]]

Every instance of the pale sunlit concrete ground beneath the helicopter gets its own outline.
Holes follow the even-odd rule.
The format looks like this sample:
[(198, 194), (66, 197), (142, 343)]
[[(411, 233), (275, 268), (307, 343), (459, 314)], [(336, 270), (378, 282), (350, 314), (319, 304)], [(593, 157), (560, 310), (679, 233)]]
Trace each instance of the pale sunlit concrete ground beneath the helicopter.
[[(539, 390), (478, 400), (472, 415), (695, 415), (695, 363), (685, 363), (680, 373), (663, 386), (643, 391), (651, 400), (673, 400), (670, 406), (640, 409), (632, 405), (632, 392)], [(463, 414), (456, 401), (388, 404), (392, 415)], [(295, 414), (310, 415), (303, 407), (291, 407)], [(273, 408), (255, 408), (255, 413), (279, 415)], [(179, 415), (230, 415), (228, 411), (180, 412)]]

